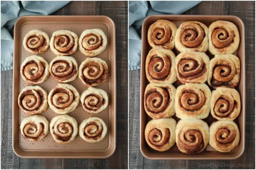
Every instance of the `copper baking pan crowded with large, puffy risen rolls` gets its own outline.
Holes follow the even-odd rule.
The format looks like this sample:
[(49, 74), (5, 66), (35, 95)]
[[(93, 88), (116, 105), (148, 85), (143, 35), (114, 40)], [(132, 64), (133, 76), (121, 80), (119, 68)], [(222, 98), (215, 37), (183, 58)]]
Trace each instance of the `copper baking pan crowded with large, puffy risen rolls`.
[[(146, 127), (147, 122), (151, 119), (144, 110), (144, 91), (148, 84), (146, 73), (145, 73), (145, 62), (148, 52), (151, 50), (147, 42), (147, 31), (151, 24), (159, 19), (165, 19), (172, 21), (178, 27), (184, 21), (199, 21), (206, 24), (207, 27), (210, 24), (217, 20), (226, 20), (231, 21), (237, 25), (239, 33), (240, 33), (240, 45), (236, 52), (236, 55), (240, 59), (241, 62), (241, 79), (239, 85), (236, 89), (239, 91), (241, 96), (241, 113), (234, 120), (238, 124), (238, 128), (240, 129), (240, 142), (237, 149), (231, 153), (220, 153), (217, 151), (212, 151), (210, 145), (207, 146), (207, 149), (199, 154), (183, 154), (178, 150), (177, 145), (174, 145), (171, 149), (158, 152), (151, 149), (144, 137), (144, 129)], [(177, 55), (177, 52), (174, 50)], [(209, 52), (207, 55), (213, 58)], [(141, 67), (140, 67), (140, 151), (144, 155), (144, 157), (148, 159), (236, 159), (240, 157), (244, 153), (245, 148), (245, 42), (244, 42), (244, 23), (237, 16), (221, 16), (221, 15), (151, 15), (147, 17), (142, 25), (142, 51), (141, 51)], [(173, 84), (175, 85), (175, 83)], [(177, 84), (176, 84), (177, 85)], [(177, 86), (176, 86), (177, 87)], [(211, 115), (211, 114), (210, 114)], [(210, 116), (209, 116), (210, 117)], [(208, 125), (211, 124), (214, 119), (212, 118), (204, 119)], [(176, 118), (174, 116), (176, 120)], [(211, 150), (211, 151), (207, 151)]]

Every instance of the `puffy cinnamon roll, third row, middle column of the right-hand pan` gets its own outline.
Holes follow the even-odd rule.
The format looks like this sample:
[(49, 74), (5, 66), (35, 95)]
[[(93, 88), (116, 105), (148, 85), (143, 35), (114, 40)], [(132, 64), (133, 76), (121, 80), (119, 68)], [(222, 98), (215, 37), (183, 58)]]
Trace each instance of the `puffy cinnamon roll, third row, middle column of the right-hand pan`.
[(211, 90), (206, 84), (186, 83), (177, 88), (176, 116), (180, 119), (204, 119), (210, 113)]

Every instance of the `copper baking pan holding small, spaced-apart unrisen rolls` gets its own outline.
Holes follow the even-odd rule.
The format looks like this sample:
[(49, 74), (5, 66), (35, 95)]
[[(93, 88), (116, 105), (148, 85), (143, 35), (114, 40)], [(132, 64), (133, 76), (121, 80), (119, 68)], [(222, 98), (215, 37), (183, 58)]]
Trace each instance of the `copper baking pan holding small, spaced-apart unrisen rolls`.
[[(108, 45), (106, 49), (98, 56), (105, 60), (108, 64), (109, 75), (105, 83), (95, 86), (102, 88), (108, 93), (109, 106), (99, 112), (98, 114), (89, 114), (84, 111), (82, 104), (79, 103), (78, 107), (68, 113), (74, 117), (78, 124), (82, 120), (97, 116), (104, 120), (108, 127), (106, 137), (97, 143), (88, 143), (83, 141), (79, 135), (75, 140), (68, 144), (56, 143), (52, 135), (49, 133), (42, 141), (31, 142), (26, 140), (20, 134), (20, 122), (23, 118), (29, 116), (21, 111), (18, 106), (18, 95), (20, 91), (28, 86), (28, 84), (20, 76), (20, 65), (22, 61), (32, 55), (27, 52), (22, 45), (23, 38), (26, 33), (31, 29), (40, 29), (46, 32), (49, 37), (52, 36), (54, 31), (66, 29), (75, 32), (78, 36), (85, 29), (99, 28), (106, 34), (108, 38)], [(50, 47), (43, 54), (39, 54), (45, 60), (50, 61), (56, 57), (50, 50)], [(78, 66), (86, 59), (79, 50), (72, 54)], [(54, 88), (58, 82), (49, 78), (39, 84), (46, 90), (47, 93)], [(74, 81), (68, 82), (74, 86), (81, 94), (87, 87), (77, 77)], [(57, 116), (49, 107), (46, 112), (42, 113), (48, 121)], [(20, 17), (14, 26), (14, 70), (13, 70), (13, 112), (12, 112), (12, 146), (16, 155), (22, 158), (107, 158), (110, 157), (116, 149), (116, 32), (115, 25), (112, 19), (107, 16), (23, 16)]]

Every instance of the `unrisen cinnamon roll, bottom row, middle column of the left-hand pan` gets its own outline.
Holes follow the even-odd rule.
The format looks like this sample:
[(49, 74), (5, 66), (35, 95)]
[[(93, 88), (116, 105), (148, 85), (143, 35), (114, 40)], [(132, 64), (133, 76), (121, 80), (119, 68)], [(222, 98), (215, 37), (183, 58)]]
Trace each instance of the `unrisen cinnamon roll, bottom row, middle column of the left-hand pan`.
[(66, 144), (73, 141), (78, 133), (76, 119), (69, 115), (55, 116), (50, 121), (50, 133), (57, 143)]

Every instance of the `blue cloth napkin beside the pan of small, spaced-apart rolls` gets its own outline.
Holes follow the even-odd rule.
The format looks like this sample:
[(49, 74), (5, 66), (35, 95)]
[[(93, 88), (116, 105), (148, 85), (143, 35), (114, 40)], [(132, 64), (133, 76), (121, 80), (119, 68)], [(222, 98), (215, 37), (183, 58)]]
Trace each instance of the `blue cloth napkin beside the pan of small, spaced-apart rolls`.
[(1, 1), (1, 71), (12, 69), (13, 37), (16, 20), (23, 15), (49, 15), (70, 1)]

